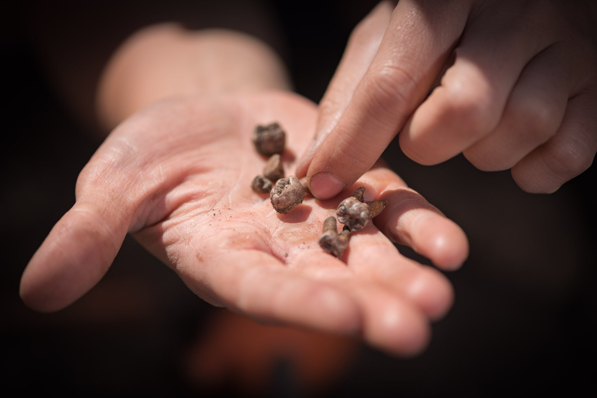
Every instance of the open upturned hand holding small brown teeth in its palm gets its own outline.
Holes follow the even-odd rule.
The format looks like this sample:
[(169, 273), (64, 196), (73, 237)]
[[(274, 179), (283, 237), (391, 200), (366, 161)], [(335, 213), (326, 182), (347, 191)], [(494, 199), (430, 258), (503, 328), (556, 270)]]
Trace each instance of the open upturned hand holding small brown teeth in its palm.
[(265, 163), (252, 147), (254, 126), (279, 121), (291, 162), (315, 118), (312, 103), (280, 92), (164, 101), (127, 119), (82, 170), (75, 205), (30, 260), (24, 302), (40, 311), (68, 306), (101, 279), (130, 232), (215, 306), (417, 353), (429, 320), (451, 306), (452, 288), (435, 269), (402, 257), (383, 233), (443, 269), (466, 258), (466, 237), (377, 166), (358, 184), (367, 200), (389, 205), (351, 237), (340, 260), (325, 254), (316, 240), (339, 199), (307, 196), (281, 215), (268, 195), (250, 189)]

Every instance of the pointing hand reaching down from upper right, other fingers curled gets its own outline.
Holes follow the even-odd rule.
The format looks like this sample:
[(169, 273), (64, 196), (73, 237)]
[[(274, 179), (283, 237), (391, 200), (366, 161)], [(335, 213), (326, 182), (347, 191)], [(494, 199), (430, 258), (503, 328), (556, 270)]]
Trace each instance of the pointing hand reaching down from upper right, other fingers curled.
[(597, 151), (596, 20), (590, 1), (382, 2), (353, 30), (297, 176), (332, 198), (400, 131), (418, 163), (463, 152), (554, 192)]

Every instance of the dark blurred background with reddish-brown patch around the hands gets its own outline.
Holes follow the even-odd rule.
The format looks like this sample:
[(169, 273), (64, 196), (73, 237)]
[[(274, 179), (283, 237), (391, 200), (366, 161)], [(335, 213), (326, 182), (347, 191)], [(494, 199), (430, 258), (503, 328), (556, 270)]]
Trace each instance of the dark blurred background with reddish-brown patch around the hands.
[(387, 161), (470, 240), (463, 268), (447, 273), (454, 307), (414, 359), (213, 308), (130, 237), (104, 279), (69, 308), (39, 314), (20, 301), (27, 261), (73, 205), (78, 172), (101, 143), (96, 128), (74, 115), (89, 112), (85, 92), (122, 40), (171, 20), (241, 30), (272, 45), (296, 91), (317, 102), (350, 31), (376, 2), (347, 3), (0, 6), (4, 388), (66, 396), (597, 394), (587, 365), (597, 351), (595, 165), (552, 195), (530, 195), (508, 171), (481, 172), (462, 156), (420, 166), (392, 143)]

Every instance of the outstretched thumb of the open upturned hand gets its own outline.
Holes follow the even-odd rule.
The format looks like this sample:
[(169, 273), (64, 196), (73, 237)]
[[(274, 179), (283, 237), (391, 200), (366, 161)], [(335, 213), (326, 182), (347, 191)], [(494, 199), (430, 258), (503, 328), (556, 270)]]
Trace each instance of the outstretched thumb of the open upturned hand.
[(122, 245), (132, 209), (96, 191), (56, 223), (21, 277), (20, 295), (34, 310), (69, 306), (93, 288)]

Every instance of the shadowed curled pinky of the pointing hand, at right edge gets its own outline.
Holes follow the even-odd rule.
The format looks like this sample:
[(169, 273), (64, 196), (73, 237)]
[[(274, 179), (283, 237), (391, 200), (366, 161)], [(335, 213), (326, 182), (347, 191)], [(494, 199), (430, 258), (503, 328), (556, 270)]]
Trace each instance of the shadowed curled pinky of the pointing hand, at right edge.
[(581, 174), (597, 152), (597, 90), (568, 100), (556, 135), (512, 167), (512, 177), (530, 193), (552, 193)]

